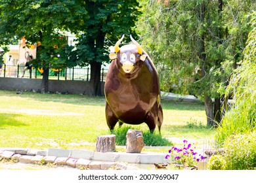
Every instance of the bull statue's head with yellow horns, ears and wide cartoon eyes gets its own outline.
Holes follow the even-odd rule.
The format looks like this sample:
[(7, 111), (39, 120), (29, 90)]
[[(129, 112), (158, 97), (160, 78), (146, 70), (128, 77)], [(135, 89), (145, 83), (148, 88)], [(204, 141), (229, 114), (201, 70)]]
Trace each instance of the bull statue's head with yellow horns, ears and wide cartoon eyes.
[(123, 35), (119, 41), (116, 42), (116, 45), (114, 47), (114, 50), (116, 54), (112, 53), (110, 54), (110, 59), (118, 59), (121, 63), (121, 67), (125, 73), (131, 73), (133, 68), (135, 67), (135, 63), (138, 60), (145, 61), (146, 54), (142, 54), (143, 50), (140, 46), (140, 44), (133, 39), (133, 37), (130, 35), (131, 41), (133, 41), (134, 44), (127, 44), (125, 46), (122, 46), (119, 48), (119, 44), (123, 40)]

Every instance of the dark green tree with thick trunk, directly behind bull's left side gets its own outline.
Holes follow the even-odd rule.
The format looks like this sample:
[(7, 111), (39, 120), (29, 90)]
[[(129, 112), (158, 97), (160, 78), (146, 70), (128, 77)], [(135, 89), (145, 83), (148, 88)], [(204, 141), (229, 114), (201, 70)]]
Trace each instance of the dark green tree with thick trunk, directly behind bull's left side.
[[(135, 34), (134, 27), (139, 12), (136, 0), (89, 0), (84, 8), (89, 18), (79, 29), (76, 61), (81, 66), (91, 66), (91, 95), (100, 95), (100, 69), (108, 62), (108, 47), (125, 34)], [(127, 37), (128, 37), (127, 36)], [(135, 36), (136, 37), (136, 36)]]

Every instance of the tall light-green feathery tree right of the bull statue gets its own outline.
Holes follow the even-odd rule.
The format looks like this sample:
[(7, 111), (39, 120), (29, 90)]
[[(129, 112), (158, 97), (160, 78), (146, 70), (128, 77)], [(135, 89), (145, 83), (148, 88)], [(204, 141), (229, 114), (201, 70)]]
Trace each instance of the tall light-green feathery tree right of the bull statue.
[(207, 125), (216, 125), (224, 88), (251, 29), (242, 18), (254, 1), (143, 2), (139, 33), (152, 50), (161, 90), (196, 95), (205, 104)]

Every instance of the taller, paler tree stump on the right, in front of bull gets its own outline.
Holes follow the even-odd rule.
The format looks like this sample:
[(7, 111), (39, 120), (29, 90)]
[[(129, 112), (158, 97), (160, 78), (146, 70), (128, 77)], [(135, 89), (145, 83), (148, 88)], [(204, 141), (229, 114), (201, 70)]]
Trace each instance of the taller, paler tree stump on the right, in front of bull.
[(126, 134), (126, 152), (140, 153), (144, 146), (142, 131), (129, 129)]

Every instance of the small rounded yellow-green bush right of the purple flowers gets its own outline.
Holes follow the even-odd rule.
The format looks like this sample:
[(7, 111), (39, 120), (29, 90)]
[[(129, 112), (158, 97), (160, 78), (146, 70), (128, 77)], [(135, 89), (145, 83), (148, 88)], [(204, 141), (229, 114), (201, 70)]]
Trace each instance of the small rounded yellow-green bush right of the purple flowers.
[(207, 161), (207, 168), (209, 170), (224, 170), (226, 169), (226, 161), (222, 155), (213, 155)]

